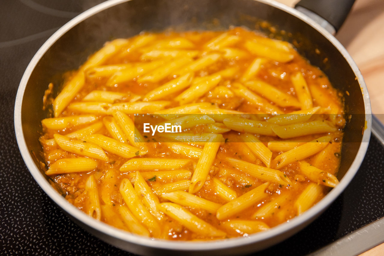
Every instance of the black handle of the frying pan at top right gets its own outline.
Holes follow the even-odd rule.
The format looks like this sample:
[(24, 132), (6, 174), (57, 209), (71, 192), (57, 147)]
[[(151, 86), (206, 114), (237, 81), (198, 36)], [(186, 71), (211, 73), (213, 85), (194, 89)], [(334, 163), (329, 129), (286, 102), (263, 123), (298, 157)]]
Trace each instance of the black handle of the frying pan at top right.
[(328, 21), (336, 31), (343, 25), (355, 0), (301, 0), (295, 7), (303, 7)]

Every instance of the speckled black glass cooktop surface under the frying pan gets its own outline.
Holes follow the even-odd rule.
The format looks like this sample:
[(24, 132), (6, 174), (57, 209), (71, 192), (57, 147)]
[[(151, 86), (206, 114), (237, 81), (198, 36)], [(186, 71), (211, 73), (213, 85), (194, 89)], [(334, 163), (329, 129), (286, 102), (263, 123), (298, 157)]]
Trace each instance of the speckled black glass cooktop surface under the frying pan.
[[(13, 127), (16, 91), (30, 59), (58, 26), (98, 2), (0, 4), (0, 248), (4, 254), (129, 255), (79, 228), (43, 193), (25, 167)], [(383, 163), (384, 148), (372, 138), (356, 177), (331, 207), (297, 235), (256, 255), (304, 255), (384, 216)]]

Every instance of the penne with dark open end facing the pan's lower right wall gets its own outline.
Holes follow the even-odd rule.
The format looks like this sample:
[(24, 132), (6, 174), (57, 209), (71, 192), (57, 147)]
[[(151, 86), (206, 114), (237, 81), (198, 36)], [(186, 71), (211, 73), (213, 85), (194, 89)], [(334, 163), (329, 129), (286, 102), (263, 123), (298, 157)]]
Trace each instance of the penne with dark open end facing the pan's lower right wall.
[(336, 185), (339, 184), (338, 179), (329, 172), (320, 170), (319, 168), (316, 168), (303, 160), (299, 161), (298, 164), (301, 173), (308, 177), (312, 182), (332, 188), (336, 187)]

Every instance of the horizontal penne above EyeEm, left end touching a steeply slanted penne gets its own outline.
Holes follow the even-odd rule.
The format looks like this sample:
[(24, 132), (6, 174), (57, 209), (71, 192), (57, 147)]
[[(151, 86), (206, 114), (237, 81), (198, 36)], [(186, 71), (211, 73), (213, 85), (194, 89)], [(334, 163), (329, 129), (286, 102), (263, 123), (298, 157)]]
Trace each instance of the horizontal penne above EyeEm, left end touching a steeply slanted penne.
[(114, 111), (121, 111), (125, 114), (148, 114), (159, 109), (164, 109), (170, 101), (150, 101), (150, 102), (121, 102), (109, 106), (106, 113), (113, 114)]

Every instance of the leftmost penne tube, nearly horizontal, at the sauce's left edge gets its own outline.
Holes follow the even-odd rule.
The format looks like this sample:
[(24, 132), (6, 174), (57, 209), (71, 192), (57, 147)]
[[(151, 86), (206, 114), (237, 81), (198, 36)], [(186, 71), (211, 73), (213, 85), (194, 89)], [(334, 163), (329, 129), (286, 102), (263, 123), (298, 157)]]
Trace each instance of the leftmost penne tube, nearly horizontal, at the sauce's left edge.
[(94, 115), (53, 117), (41, 120), (43, 127), (51, 130), (63, 130), (70, 127), (89, 124), (97, 120)]

